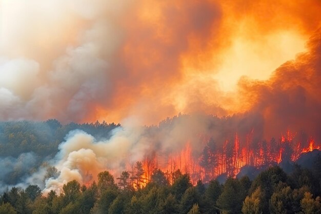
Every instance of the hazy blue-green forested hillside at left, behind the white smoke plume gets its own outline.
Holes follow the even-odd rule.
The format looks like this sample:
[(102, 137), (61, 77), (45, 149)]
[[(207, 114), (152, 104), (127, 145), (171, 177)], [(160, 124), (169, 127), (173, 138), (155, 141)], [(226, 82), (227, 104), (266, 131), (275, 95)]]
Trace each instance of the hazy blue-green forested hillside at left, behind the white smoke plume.
[(0, 186), (24, 182), (37, 168), (54, 158), (69, 131), (81, 129), (97, 139), (108, 139), (119, 124), (46, 122), (0, 122)]

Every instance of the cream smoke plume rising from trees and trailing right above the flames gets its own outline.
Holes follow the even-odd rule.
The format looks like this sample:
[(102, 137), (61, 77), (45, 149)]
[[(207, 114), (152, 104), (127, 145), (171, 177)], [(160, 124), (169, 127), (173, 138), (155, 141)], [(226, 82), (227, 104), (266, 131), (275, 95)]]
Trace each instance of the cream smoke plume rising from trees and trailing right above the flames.
[(198, 157), (203, 145), (197, 134), (210, 131), (210, 120), (205, 115), (181, 115), (158, 127), (142, 127), (136, 125), (135, 120), (127, 120), (123, 127), (112, 130), (108, 140), (97, 140), (82, 130), (71, 131), (50, 162), (61, 173), (57, 178), (46, 180), (44, 193), (50, 190), (60, 193), (63, 185), (71, 180), (91, 183), (104, 170), (110, 171), (116, 179), (122, 171), (129, 170), (136, 161), (143, 161), (152, 152), (159, 156), (158, 167), (166, 167), (168, 163), (164, 161), (169, 155), (180, 154), (187, 143)]

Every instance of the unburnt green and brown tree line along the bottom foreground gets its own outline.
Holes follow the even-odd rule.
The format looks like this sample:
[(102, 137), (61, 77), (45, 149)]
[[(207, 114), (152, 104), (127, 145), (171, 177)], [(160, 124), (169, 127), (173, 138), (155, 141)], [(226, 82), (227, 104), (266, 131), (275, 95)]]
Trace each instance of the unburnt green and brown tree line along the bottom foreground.
[(272, 166), (252, 181), (229, 177), (224, 184), (199, 180), (192, 185), (189, 174), (179, 170), (169, 181), (165, 172), (154, 169), (147, 181), (137, 162), (135, 173), (123, 171), (114, 179), (103, 171), (91, 184), (69, 181), (59, 195), (53, 190), (44, 195), (36, 185), (12, 187), (1, 195), (0, 214), (321, 213), (320, 166), (318, 155), (310, 169), (295, 165), (287, 174)]

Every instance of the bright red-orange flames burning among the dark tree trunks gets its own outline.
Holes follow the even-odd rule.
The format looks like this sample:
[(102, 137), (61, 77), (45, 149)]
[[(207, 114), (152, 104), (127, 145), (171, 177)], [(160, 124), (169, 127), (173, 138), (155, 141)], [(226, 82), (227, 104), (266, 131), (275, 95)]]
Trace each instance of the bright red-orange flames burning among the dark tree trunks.
[(213, 139), (210, 139), (198, 159), (193, 158), (190, 143), (186, 143), (186, 147), (181, 152), (171, 153), (163, 160), (157, 156), (157, 152), (153, 152), (154, 155), (143, 161), (144, 182), (142, 185), (146, 185), (153, 169), (157, 167), (166, 172), (169, 181), (172, 179), (172, 174), (179, 170), (190, 174), (191, 181), (196, 184), (198, 180), (207, 182), (222, 174), (235, 177), (244, 166), (259, 168), (283, 161), (295, 162), (300, 154), (321, 148), (320, 144), (315, 144), (312, 138), (303, 143), (294, 139), (295, 134), (289, 130), (286, 135), (281, 135), (278, 142), (274, 139), (269, 142), (258, 142), (256, 148), (249, 147), (249, 138), (242, 141), (237, 134), (235, 134), (234, 141), (226, 140), (222, 148), (216, 147)]

